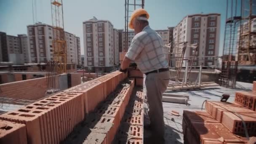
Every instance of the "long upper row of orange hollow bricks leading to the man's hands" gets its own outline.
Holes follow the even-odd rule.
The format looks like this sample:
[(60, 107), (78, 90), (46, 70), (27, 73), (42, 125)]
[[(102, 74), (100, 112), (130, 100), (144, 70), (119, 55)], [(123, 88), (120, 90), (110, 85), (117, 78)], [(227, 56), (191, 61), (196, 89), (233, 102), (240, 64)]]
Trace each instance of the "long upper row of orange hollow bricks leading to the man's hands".
[[(24, 126), (23, 134), (29, 144), (60, 143), (67, 138), (78, 123), (86, 119), (86, 114), (93, 112), (97, 105), (107, 98), (105, 94), (114, 91), (127, 75), (115, 72), (105, 77), (108, 77), (106, 80), (109, 80), (106, 81), (107, 85), (104, 85), (105, 81), (101, 78), (88, 81), (61, 93), (45, 97), (21, 109), (0, 115), (0, 120), (16, 122), (17, 125)], [(105, 92), (104, 90), (110, 85), (108, 82), (111, 83), (112, 88)], [(113, 120), (108, 119), (107, 122), (114, 122)], [(11, 130), (10, 133), (15, 134), (14, 130)], [(2, 139), (5, 143), (13, 141), (5, 139), (5, 136), (5, 133), (0, 133), (0, 141)]]

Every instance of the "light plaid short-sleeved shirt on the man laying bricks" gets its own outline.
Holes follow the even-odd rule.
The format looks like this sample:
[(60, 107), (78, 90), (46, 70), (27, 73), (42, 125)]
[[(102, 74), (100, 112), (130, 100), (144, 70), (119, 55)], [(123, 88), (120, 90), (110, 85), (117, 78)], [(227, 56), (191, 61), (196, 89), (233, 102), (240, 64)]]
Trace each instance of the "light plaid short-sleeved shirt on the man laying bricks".
[(133, 37), (131, 46), (125, 54), (135, 61), (141, 72), (151, 72), (156, 69), (168, 68), (168, 61), (163, 52), (163, 40), (149, 26)]

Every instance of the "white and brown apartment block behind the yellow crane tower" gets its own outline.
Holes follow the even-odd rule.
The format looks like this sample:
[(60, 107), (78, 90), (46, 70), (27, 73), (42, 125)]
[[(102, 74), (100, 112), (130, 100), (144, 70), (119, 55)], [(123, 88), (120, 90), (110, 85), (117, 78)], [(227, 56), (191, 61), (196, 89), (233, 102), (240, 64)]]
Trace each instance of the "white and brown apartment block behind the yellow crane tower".
[[(28, 25), (27, 34), (29, 63), (46, 63), (53, 60), (53, 27), (39, 22)], [(65, 40), (67, 43), (67, 63), (78, 64), (77, 38), (75, 35), (65, 32)]]

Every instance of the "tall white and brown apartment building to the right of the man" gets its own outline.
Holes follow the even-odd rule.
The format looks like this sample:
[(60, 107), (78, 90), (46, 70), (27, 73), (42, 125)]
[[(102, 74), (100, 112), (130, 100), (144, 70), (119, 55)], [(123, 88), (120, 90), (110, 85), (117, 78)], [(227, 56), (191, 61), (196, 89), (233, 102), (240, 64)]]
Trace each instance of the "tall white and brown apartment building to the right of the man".
[[(188, 45), (197, 43), (197, 59), (194, 66), (212, 66), (219, 56), (220, 14), (194, 14), (182, 19), (173, 29), (175, 43), (187, 42)], [(176, 47), (175, 56), (180, 56), (181, 48)], [(192, 49), (187, 47), (185, 58), (191, 57)], [(185, 66), (185, 62), (183, 63)]]

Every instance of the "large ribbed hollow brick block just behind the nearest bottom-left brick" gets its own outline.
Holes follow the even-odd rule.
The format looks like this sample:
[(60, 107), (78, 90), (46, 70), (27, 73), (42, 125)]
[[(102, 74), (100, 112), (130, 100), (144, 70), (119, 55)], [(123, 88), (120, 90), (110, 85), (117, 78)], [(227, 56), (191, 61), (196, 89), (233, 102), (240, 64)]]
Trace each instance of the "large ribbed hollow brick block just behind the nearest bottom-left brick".
[(25, 124), (29, 144), (59, 143), (84, 119), (83, 98), (83, 93), (57, 93), (0, 119)]

